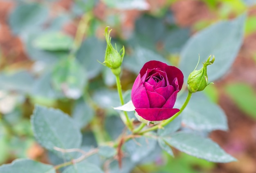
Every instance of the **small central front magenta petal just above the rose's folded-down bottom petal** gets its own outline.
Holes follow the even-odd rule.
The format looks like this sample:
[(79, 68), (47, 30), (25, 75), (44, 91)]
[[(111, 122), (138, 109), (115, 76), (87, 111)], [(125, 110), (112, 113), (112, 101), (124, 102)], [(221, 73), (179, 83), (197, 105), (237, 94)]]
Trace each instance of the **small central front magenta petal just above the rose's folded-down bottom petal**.
[(161, 108), (165, 104), (166, 100), (162, 95), (159, 95), (158, 93), (150, 92), (150, 91), (146, 91), (146, 92), (148, 94), (150, 108)]

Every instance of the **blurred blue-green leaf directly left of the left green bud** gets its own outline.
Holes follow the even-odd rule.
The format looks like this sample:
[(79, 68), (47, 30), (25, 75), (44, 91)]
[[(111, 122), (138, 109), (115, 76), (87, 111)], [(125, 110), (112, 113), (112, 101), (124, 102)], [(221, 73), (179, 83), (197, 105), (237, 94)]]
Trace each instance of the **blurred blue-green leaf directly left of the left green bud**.
[[(99, 62), (104, 61), (106, 43), (96, 37), (87, 38), (76, 53), (77, 60), (86, 69), (89, 79), (99, 75), (103, 65)], [(97, 61), (99, 60), (99, 62)]]

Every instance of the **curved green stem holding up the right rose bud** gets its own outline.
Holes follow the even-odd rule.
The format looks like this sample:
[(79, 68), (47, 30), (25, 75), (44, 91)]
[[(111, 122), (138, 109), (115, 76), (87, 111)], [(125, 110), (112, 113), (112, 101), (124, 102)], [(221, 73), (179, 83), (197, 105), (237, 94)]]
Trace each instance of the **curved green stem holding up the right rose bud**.
[(190, 98), (191, 98), (191, 95), (192, 95), (192, 93), (189, 92), (188, 95), (187, 95), (187, 97), (186, 97), (185, 102), (183, 103), (183, 105), (182, 105), (182, 107), (180, 108), (180, 111), (179, 111), (178, 113), (176, 113), (175, 115), (173, 115), (171, 118), (169, 118), (169, 119), (163, 121), (163, 122), (160, 123), (159, 125), (156, 125), (156, 126), (153, 126), (153, 127), (151, 127), (151, 128), (148, 128), (148, 129), (146, 129), (146, 130), (144, 130), (144, 131), (139, 132), (138, 134), (139, 134), (139, 135), (142, 135), (142, 134), (144, 134), (144, 133), (146, 133), (146, 132), (153, 131), (153, 130), (157, 130), (158, 128), (164, 127), (164, 126), (166, 126), (167, 124), (169, 124), (170, 122), (172, 122), (172, 121), (173, 121), (177, 116), (179, 116), (179, 115), (182, 113), (182, 111), (185, 109), (186, 105), (189, 103), (189, 100), (190, 100)]

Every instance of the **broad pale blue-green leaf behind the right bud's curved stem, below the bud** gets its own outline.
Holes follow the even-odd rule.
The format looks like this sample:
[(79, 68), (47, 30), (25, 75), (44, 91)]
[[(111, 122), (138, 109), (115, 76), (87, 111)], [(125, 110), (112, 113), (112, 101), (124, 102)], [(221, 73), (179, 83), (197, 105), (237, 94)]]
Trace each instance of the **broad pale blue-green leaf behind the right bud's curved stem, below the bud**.
[[(177, 99), (175, 106), (180, 108), (185, 101), (186, 94)], [(220, 108), (201, 92), (193, 93), (189, 104), (181, 113), (182, 123), (199, 131), (213, 131), (228, 129), (227, 118)]]

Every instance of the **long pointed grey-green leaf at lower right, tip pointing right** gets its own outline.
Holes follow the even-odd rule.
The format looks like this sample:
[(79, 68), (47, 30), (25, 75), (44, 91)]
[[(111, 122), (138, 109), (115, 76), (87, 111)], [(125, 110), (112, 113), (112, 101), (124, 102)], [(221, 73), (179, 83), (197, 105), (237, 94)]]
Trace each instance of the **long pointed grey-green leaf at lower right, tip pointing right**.
[(236, 161), (234, 157), (225, 153), (218, 144), (195, 133), (182, 131), (174, 133), (171, 137), (165, 137), (163, 139), (169, 145), (184, 153), (210, 162), (227, 163)]

